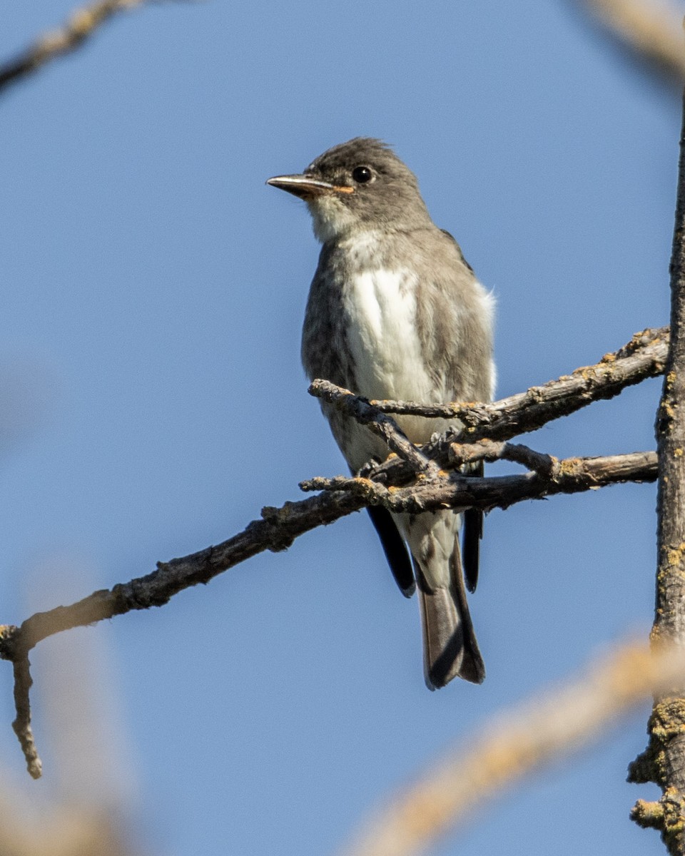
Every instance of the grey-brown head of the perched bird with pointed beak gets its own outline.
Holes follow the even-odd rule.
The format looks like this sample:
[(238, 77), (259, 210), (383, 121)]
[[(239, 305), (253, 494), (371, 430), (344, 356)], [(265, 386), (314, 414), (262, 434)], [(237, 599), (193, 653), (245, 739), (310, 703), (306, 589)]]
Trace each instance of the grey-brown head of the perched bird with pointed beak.
[(275, 175), (266, 183), (307, 202), (322, 242), (431, 223), (416, 176), (381, 140), (355, 137), (324, 152), (300, 175)]

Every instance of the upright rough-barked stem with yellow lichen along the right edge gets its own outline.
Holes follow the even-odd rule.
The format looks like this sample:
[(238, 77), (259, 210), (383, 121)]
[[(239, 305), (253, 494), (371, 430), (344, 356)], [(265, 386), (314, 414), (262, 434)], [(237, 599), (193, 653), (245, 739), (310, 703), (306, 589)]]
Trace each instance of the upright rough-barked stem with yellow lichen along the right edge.
[[(656, 425), (658, 568), (652, 645), (675, 645), (685, 654), (685, 101), (683, 108), (670, 262), (670, 350)], [(685, 681), (654, 698), (648, 729), (649, 745), (631, 765), (628, 779), (656, 782), (664, 793), (656, 803), (640, 800), (633, 818), (658, 829), (673, 856), (685, 856)]]

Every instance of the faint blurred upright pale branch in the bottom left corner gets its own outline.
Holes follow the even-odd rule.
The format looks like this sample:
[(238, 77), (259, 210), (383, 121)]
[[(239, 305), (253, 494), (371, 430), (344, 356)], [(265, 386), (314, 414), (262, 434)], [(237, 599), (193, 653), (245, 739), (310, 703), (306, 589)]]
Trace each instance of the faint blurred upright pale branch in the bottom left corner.
[[(59, 598), (92, 576), (79, 556), (51, 554), (28, 568), (26, 599), (35, 606), (37, 591)], [(80, 631), (53, 639), (36, 657), (36, 697), (52, 775), (37, 792), (33, 782), (0, 770), (3, 856), (144, 852), (134, 843), (136, 776), (112, 653), (106, 633)]]

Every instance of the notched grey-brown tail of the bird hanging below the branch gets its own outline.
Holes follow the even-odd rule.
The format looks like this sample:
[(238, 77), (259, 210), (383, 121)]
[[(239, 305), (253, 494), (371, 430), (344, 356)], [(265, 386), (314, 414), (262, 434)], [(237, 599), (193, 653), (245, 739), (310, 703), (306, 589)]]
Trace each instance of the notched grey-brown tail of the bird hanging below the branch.
[(450, 582), (430, 586), (414, 559), (423, 630), (424, 675), (429, 689), (439, 689), (457, 675), (480, 684), (485, 664), (468, 612), (458, 542), (450, 560)]

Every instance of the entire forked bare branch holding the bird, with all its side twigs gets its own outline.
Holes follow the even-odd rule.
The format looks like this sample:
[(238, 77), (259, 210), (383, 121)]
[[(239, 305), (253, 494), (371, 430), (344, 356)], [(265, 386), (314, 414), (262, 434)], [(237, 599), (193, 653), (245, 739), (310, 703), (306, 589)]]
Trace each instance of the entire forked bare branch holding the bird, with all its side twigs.
[[(492, 405), (457, 405), (455, 413), (468, 413), (473, 426), (461, 432), (428, 443), (418, 449), (404, 443), (394, 420), (381, 410), (333, 384), (319, 382), (321, 395), (348, 409), (356, 419), (373, 425), (392, 448), (402, 451), (403, 458), (391, 456), (383, 464), (369, 467), (364, 477), (348, 479), (311, 479), (303, 482), (305, 490), (323, 490), (301, 502), (286, 502), (281, 508), (263, 508), (261, 520), (253, 520), (242, 532), (223, 544), (170, 562), (159, 562), (152, 574), (130, 580), (111, 589), (94, 591), (69, 606), (58, 606), (30, 616), (21, 627), (0, 627), (0, 658), (15, 663), (15, 730), (27, 758), (32, 776), (40, 775), (40, 762), (30, 728), (28, 705), (28, 653), (42, 639), (122, 615), (134, 609), (149, 609), (168, 603), (179, 591), (207, 583), (218, 574), (264, 550), (286, 550), (293, 540), (317, 526), (338, 520), (366, 505), (381, 504), (392, 511), (418, 513), (439, 508), (507, 508), (515, 502), (539, 499), (557, 493), (595, 490), (608, 484), (627, 481), (653, 481), (657, 475), (657, 458), (653, 452), (611, 455), (597, 458), (569, 458), (558, 461), (526, 446), (485, 440), (457, 443), (456, 439), (485, 432), (511, 436), (532, 430), (526, 426), (544, 424), (584, 407), (593, 400), (617, 395), (630, 383), (639, 383), (663, 371), (661, 362), (666, 348), (664, 330), (647, 330), (616, 354), (608, 354), (598, 366), (578, 369), (571, 376), (546, 383), (522, 395)], [(316, 385), (316, 384), (314, 384)], [(559, 390), (562, 390), (561, 392)], [(384, 402), (387, 407), (398, 407)], [(406, 405), (420, 410), (419, 405)], [(452, 406), (450, 406), (452, 407)], [(442, 415), (442, 414), (441, 414)], [(479, 420), (482, 422), (479, 424)], [(404, 438), (406, 440), (406, 438)], [(503, 459), (528, 467), (521, 475), (474, 478), (454, 470), (464, 463)], [(422, 471), (417, 473), (418, 471)]]

